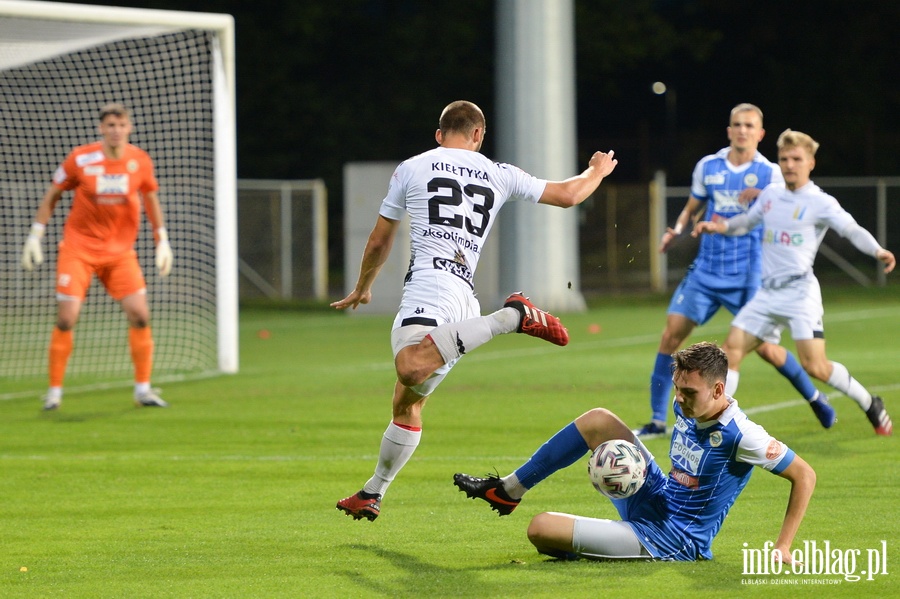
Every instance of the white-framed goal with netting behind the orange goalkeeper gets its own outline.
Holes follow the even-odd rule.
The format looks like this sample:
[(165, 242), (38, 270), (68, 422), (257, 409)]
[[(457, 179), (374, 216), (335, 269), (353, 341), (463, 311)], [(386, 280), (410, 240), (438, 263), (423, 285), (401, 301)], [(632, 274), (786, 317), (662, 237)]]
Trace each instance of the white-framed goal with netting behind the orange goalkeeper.
[[(130, 141), (153, 158), (175, 266), (160, 278), (143, 217), (137, 251), (156, 349), (154, 381), (237, 370), (233, 20), (228, 15), (0, 0), (0, 382), (41, 377), (56, 319), (57, 244), (71, 193), (20, 266), (51, 176), (95, 141), (99, 108), (131, 109)], [(127, 322), (94, 281), (75, 329), (71, 379), (129, 380)], [(0, 385), (2, 387), (2, 385)]]

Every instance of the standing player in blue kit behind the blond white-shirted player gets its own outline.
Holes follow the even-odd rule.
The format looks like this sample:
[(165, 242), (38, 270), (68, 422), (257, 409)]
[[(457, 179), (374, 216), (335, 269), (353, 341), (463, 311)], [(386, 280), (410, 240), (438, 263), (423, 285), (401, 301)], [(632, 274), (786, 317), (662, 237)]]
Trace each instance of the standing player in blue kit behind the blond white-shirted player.
[[(742, 214), (770, 183), (783, 181), (777, 165), (769, 162), (757, 147), (765, 135), (762, 111), (753, 104), (738, 104), (731, 110), (728, 126), (730, 145), (704, 157), (694, 168), (691, 196), (678, 215), (675, 226), (666, 230), (660, 242), (665, 252), (676, 237), (690, 230), (692, 220), (705, 206), (703, 220), (718, 221)], [(666, 328), (659, 342), (650, 377), (651, 420), (635, 430), (643, 438), (666, 434), (666, 413), (672, 392), (672, 352), (681, 347), (697, 325), (706, 323), (719, 308), (732, 314), (746, 304), (760, 284), (760, 235), (754, 229), (740, 237), (704, 236), (694, 263), (688, 269), (669, 303)], [(778, 345), (764, 343), (757, 353), (775, 366), (794, 388), (810, 402), (822, 426), (834, 423), (834, 410), (806, 375), (793, 354)], [(728, 381), (729, 391), (737, 389)], [(733, 387), (732, 387), (733, 385)]]

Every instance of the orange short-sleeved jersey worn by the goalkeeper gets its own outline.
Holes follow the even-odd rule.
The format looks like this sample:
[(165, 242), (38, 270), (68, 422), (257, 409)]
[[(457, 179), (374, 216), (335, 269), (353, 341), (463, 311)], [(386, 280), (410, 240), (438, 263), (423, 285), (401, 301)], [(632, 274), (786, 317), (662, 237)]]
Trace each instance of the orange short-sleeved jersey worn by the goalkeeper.
[(53, 183), (75, 190), (63, 228), (66, 247), (95, 257), (119, 256), (134, 247), (142, 194), (159, 189), (149, 154), (127, 144), (120, 159), (107, 158), (99, 141), (72, 150)]

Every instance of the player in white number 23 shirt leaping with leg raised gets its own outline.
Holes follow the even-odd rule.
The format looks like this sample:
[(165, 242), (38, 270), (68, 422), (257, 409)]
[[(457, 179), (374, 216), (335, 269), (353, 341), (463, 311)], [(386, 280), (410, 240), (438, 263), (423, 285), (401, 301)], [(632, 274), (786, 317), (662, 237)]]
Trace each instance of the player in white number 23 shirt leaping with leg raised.
[(559, 319), (521, 293), (510, 295), (500, 310), (481, 316), (473, 288), (475, 268), (508, 200), (577, 206), (618, 161), (613, 152), (595, 152), (580, 175), (545, 181), (481, 155), (484, 134), (484, 114), (475, 104), (457, 101), (444, 108), (435, 133), (439, 147), (394, 171), (363, 252), (356, 287), (331, 304), (344, 310), (369, 302), (372, 283), (387, 260), (400, 220), (408, 214), (412, 258), (391, 331), (397, 371), (393, 418), (382, 438), (375, 473), (362, 490), (337, 503), (337, 509), (356, 520), (378, 517), (384, 493), (419, 444), (425, 401), (459, 358), (504, 333), (525, 333), (557, 345), (569, 340)]

